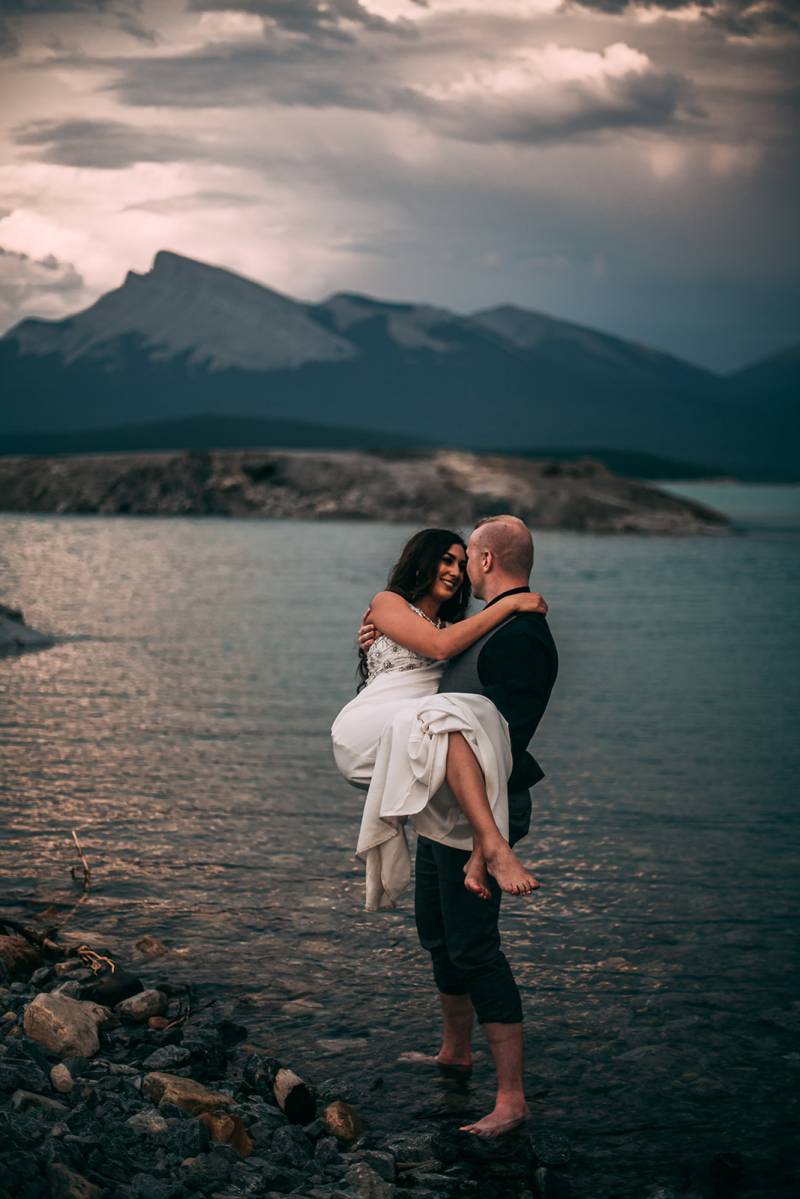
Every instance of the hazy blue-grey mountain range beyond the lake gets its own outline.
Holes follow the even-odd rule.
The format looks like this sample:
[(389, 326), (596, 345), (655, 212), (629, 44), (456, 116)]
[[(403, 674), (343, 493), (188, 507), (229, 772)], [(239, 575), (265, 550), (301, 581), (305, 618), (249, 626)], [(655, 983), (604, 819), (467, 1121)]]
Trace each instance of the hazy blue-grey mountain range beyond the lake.
[(720, 375), (509, 305), (459, 315), (349, 293), (305, 303), (168, 251), (84, 312), (11, 329), (0, 378), (5, 452), (37, 440), (68, 452), (86, 438), (116, 448), (114, 430), (132, 426), (156, 442), (160, 424), (198, 436), (201, 417), (209, 438), (224, 440), (227, 420), (247, 445), (279, 445), (281, 430), (301, 445), (305, 427), (309, 446), (606, 446), (800, 478), (800, 344)]

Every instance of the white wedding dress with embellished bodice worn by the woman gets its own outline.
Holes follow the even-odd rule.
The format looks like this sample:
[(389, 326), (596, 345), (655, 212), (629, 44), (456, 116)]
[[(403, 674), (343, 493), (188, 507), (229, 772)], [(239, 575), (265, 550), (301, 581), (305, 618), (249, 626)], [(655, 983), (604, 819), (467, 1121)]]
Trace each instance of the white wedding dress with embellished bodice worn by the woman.
[(366, 863), (367, 911), (393, 908), (408, 886), (408, 818), (423, 837), (473, 848), (471, 827), (445, 782), (450, 733), (462, 733), (470, 745), (494, 820), (509, 836), (509, 725), (483, 695), (438, 694), (445, 665), (380, 635), (367, 653), (366, 686), (331, 729), (336, 765), (348, 782), (367, 790), (356, 846)]

